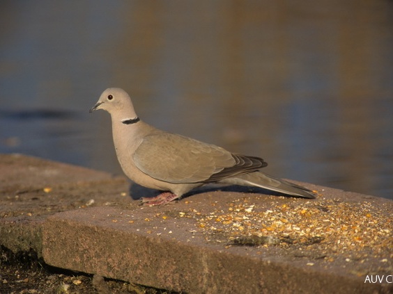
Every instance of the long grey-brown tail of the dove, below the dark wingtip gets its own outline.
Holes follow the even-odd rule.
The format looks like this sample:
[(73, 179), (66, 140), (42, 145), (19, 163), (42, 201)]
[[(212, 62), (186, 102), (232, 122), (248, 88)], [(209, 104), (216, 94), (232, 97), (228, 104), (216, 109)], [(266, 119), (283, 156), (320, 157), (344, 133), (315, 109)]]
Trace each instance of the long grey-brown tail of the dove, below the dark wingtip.
[(223, 179), (220, 182), (242, 186), (257, 186), (287, 195), (305, 198), (315, 198), (315, 193), (313, 191), (302, 186), (298, 186), (295, 183), (290, 183), (282, 179), (277, 179), (263, 172), (250, 172), (249, 174), (240, 174), (236, 177)]

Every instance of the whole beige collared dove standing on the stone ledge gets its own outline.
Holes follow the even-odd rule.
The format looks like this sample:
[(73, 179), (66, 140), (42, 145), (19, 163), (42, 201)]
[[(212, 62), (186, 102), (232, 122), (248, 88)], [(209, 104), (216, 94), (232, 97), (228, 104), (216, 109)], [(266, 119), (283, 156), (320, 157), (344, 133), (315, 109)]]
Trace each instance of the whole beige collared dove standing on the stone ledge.
[(164, 191), (156, 197), (142, 198), (144, 205), (166, 204), (213, 182), (315, 197), (307, 188), (261, 172), (268, 165), (262, 158), (231, 153), (146, 124), (139, 120), (130, 96), (120, 88), (102, 92), (90, 112), (97, 109), (111, 115), (114, 147), (124, 173), (141, 186)]

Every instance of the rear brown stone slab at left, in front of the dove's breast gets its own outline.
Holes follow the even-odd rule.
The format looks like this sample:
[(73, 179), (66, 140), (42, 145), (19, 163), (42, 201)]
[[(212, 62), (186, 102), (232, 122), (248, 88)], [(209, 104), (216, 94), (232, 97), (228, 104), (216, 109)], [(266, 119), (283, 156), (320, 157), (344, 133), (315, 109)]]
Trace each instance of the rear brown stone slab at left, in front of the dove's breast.
[[(22, 154), (0, 154), (0, 245), (13, 252), (42, 249), (48, 215), (108, 202), (129, 203), (129, 183), (66, 163)], [(123, 195), (123, 196), (122, 196)]]

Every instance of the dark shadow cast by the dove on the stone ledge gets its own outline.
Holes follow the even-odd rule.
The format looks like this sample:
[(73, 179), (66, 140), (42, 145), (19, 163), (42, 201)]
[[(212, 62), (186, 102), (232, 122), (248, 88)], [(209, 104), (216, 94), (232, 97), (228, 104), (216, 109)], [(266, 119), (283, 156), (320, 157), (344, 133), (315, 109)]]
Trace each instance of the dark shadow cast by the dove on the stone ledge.
[[(191, 197), (193, 195), (198, 195), (201, 193), (209, 193), (209, 192), (216, 192), (216, 191), (221, 191), (221, 192), (235, 192), (235, 193), (252, 193), (252, 194), (261, 194), (261, 195), (272, 195), (272, 196), (285, 196), (285, 197), (295, 197), (299, 198), (296, 196), (292, 195), (286, 195), (283, 193), (275, 192), (272, 190), (268, 189), (263, 189), (259, 187), (253, 187), (253, 186), (240, 186), (240, 185), (224, 185), (224, 184), (218, 184), (218, 183), (211, 183), (205, 186), (201, 186), (199, 188), (194, 188), (190, 192), (185, 193), (181, 199)], [(145, 188), (144, 186), (140, 186), (137, 183), (131, 183), (130, 185), (130, 197), (134, 200), (139, 200), (142, 197), (155, 197), (162, 193), (163, 191), (160, 190), (154, 190), (154, 189), (149, 189)]]

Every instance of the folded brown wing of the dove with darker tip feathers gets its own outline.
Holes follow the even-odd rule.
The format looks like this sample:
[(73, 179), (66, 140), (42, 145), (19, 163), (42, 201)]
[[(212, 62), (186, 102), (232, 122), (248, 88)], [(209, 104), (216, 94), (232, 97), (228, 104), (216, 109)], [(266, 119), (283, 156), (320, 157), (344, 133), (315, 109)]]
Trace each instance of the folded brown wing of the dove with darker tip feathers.
[(219, 181), (267, 165), (258, 157), (232, 154), (221, 147), (167, 132), (146, 136), (133, 159), (141, 172), (169, 183)]

